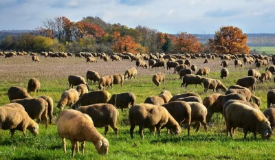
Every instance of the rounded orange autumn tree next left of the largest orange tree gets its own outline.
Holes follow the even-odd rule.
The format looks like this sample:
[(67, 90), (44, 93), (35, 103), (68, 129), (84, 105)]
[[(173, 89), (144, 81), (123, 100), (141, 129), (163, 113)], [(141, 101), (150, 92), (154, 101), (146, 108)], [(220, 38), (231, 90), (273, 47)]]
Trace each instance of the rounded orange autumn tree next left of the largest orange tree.
[(203, 51), (199, 39), (192, 34), (187, 34), (186, 32), (180, 32), (177, 34), (174, 45), (175, 52), (195, 54)]

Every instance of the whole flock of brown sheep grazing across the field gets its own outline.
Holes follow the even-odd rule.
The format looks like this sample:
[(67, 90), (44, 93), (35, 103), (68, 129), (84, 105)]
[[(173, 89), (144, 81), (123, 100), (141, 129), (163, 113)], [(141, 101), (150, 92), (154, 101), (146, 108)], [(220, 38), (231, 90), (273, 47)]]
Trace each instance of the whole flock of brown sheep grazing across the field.
[[(11, 52), (12, 53), (12, 52)], [(8, 55), (7, 53), (5, 55)], [(50, 53), (51, 54), (51, 53)], [(54, 53), (52, 53), (54, 54)], [(14, 54), (12, 54), (14, 55)], [(45, 56), (43, 52), (43, 56)], [(47, 53), (46, 56), (48, 56)], [(58, 54), (68, 55), (65, 53)], [(61, 56), (60, 56), (61, 55)], [(46, 57), (45, 56), (45, 57)], [(85, 56), (87, 62), (96, 62), (93, 59), (100, 56), (102, 60), (108, 61), (109, 56), (106, 54), (75, 54), (76, 57)], [(65, 139), (70, 139), (72, 143), (72, 156), (74, 151), (78, 150), (78, 141), (82, 142), (82, 152), (84, 153), (85, 141), (91, 141), (99, 154), (106, 155), (108, 153), (109, 142), (104, 138), (96, 127), (105, 127), (104, 134), (109, 132), (109, 126), (118, 135), (117, 121), (119, 117), (118, 108), (122, 111), (129, 108), (130, 135), (133, 138), (133, 130), (135, 126), (139, 126), (138, 133), (144, 138), (144, 128), (160, 134), (162, 128), (167, 128), (168, 133), (174, 135), (181, 133), (181, 125), (185, 124), (188, 135), (190, 135), (190, 124), (197, 124), (196, 132), (202, 124), (207, 131), (207, 124), (211, 121), (214, 113), (222, 113), (225, 119), (227, 133), (232, 137), (236, 128), (243, 128), (244, 138), (248, 132), (259, 133), (263, 139), (269, 139), (272, 135), (272, 128), (275, 124), (275, 108), (270, 107), (275, 104), (275, 90), (267, 93), (267, 110), (261, 112), (261, 99), (253, 95), (256, 82), (266, 82), (271, 80), (272, 73), (275, 73), (274, 66), (267, 67), (265, 73), (259, 73), (256, 69), (249, 69), (248, 77), (239, 78), (236, 84), (225, 87), (220, 80), (208, 78), (210, 69), (202, 67), (197, 69), (195, 65), (190, 65), (190, 59), (206, 58), (204, 63), (209, 59), (221, 58), (221, 78), (226, 78), (229, 74), (228, 60), (234, 59), (235, 67), (243, 67), (239, 58), (243, 58), (244, 64), (255, 62), (256, 67), (267, 66), (273, 62), (273, 57), (255, 55), (217, 55), (217, 54), (111, 54), (111, 60), (129, 59), (135, 60), (137, 67), (166, 69), (173, 68), (174, 73), (178, 73), (182, 79), (181, 87), (187, 87), (189, 84), (200, 84), (204, 87), (204, 91), (208, 89), (219, 91), (225, 94), (213, 93), (203, 100), (197, 93), (188, 92), (172, 95), (170, 91), (162, 91), (159, 95), (152, 95), (142, 104), (135, 104), (136, 97), (134, 93), (125, 92), (111, 95), (104, 90), (113, 88), (113, 84), (122, 84), (126, 79), (136, 79), (137, 69), (132, 67), (122, 74), (114, 74), (111, 76), (100, 77), (98, 72), (87, 71), (87, 82), (90, 80), (94, 84), (98, 82), (98, 91), (90, 91), (89, 85), (85, 78), (76, 75), (68, 76), (69, 90), (61, 94), (61, 99), (56, 107), (62, 111), (56, 119), (58, 135), (62, 138), (63, 149), (66, 152)], [(37, 57), (37, 58), (36, 58)], [(54, 56), (52, 56), (54, 57)], [(57, 56), (56, 56), (57, 57)], [(67, 56), (63, 56), (67, 57)], [(189, 58), (189, 59), (188, 59)], [(165, 60), (168, 59), (167, 62)], [(39, 62), (37, 55), (32, 55), (32, 60)], [(148, 65), (145, 62), (148, 60)], [(259, 65), (261, 63), (261, 65)], [(190, 67), (190, 69), (188, 68)], [(204, 77), (203, 77), (204, 76)], [(152, 78), (155, 86), (165, 85), (164, 73), (158, 72)], [(39, 124), (45, 123), (47, 128), (48, 121), (53, 122), (54, 104), (52, 98), (47, 95), (32, 98), (30, 92), (38, 92), (40, 82), (36, 78), (30, 79), (28, 89), (22, 87), (10, 87), (8, 90), (8, 98), (10, 104), (0, 107), (0, 129), (10, 130), (11, 136), (15, 130), (21, 130), (26, 137), (25, 130), (30, 130), (34, 135), (39, 134)], [(76, 89), (73, 87), (76, 86)], [(248, 88), (252, 88), (251, 91)], [(69, 106), (72, 109), (65, 109)], [(49, 117), (49, 118), (48, 118)], [(36, 119), (34, 122), (33, 119)]]

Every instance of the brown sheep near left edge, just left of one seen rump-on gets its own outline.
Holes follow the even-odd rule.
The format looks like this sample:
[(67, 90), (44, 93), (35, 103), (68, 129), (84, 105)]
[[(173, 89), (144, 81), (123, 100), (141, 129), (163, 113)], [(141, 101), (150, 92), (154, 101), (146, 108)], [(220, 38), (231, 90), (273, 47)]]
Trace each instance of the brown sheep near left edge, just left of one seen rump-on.
[(32, 98), (32, 96), (23, 87), (12, 86), (8, 89), (8, 98), (12, 101), (15, 99)]

